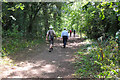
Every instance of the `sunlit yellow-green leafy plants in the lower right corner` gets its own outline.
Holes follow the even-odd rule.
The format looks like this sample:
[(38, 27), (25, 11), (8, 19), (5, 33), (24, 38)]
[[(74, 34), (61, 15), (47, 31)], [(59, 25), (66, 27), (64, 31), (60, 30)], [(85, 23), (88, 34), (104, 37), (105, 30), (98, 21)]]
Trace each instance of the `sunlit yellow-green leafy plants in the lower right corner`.
[[(119, 56), (118, 56), (118, 44), (111, 37), (109, 40), (92, 46), (93, 49), (90, 51), (93, 55), (94, 64), (100, 67), (100, 73), (97, 75), (98, 78), (116, 78), (119, 72)], [(102, 56), (103, 54), (103, 56)]]

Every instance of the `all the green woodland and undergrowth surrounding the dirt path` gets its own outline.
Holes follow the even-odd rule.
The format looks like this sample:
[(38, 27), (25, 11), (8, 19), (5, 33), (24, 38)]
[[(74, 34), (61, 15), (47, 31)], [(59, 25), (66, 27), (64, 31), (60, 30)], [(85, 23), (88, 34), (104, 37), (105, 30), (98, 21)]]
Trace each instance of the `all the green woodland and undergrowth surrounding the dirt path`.
[(97, 78), (120, 76), (116, 71), (120, 64), (119, 1), (3, 2), (1, 21), (2, 57), (45, 43), (50, 25), (54, 27), (57, 37), (66, 27), (68, 31), (75, 29), (80, 38), (92, 41), (89, 58), (81, 55), (86, 53), (85, 49), (78, 52), (84, 61), (83, 64), (77, 62), (81, 67), (76, 74), (84, 76), (86, 71), (94, 73), (95, 70), (97, 73), (93, 76)]

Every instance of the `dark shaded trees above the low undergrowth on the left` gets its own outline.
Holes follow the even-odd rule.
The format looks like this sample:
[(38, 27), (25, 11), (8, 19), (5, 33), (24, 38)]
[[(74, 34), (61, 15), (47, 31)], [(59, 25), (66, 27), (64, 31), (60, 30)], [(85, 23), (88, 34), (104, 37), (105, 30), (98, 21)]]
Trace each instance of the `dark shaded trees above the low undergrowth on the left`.
[[(25, 37), (45, 37), (49, 25), (53, 25), (55, 31), (60, 32), (61, 6), (64, 3), (46, 2), (16, 2), (3, 3), (2, 23), (3, 30), (12, 31), (13, 24), (18, 26), (17, 31)], [(3, 34), (3, 35), (6, 35)]]

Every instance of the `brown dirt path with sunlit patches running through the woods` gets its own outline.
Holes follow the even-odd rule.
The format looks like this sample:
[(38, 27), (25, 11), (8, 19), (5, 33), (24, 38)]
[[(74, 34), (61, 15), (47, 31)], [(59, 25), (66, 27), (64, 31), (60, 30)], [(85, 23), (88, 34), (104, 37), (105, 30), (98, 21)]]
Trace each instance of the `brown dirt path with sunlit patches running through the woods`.
[(75, 69), (72, 62), (80, 41), (78, 37), (71, 37), (67, 47), (63, 48), (62, 41), (57, 39), (52, 52), (48, 52), (48, 44), (20, 51), (16, 57), (10, 57), (16, 66), (4, 66), (1, 77), (73, 78)]

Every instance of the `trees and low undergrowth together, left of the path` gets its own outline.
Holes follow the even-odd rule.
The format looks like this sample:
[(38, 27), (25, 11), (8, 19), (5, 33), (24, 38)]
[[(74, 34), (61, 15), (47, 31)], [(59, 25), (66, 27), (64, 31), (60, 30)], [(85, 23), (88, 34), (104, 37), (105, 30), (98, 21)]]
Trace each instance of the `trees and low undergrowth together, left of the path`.
[(49, 25), (53, 25), (57, 37), (60, 37), (64, 27), (61, 20), (63, 4), (66, 3), (4, 2), (2, 4), (3, 56), (35, 45), (34, 40), (42, 41), (46, 37)]

